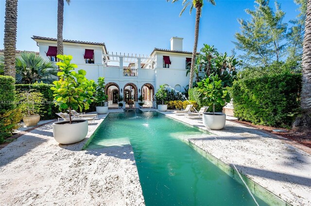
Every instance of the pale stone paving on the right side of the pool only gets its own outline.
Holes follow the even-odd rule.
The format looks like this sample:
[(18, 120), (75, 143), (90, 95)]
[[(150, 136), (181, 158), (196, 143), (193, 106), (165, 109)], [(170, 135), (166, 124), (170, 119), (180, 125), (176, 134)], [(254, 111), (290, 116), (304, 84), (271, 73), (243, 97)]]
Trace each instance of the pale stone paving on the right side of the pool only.
[(226, 121), (222, 130), (210, 130), (204, 127), (202, 119), (189, 119), (172, 111), (160, 113), (212, 133), (188, 139), (195, 149), (206, 152), (199, 151), (201, 154), (212, 155), (225, 165), (235, 165), (243, 175), (291, 205), (311, 205), (311, 154), (307, 153), (310, 148), (299, 145), (298, 149), (286, 138), (232, 121)]

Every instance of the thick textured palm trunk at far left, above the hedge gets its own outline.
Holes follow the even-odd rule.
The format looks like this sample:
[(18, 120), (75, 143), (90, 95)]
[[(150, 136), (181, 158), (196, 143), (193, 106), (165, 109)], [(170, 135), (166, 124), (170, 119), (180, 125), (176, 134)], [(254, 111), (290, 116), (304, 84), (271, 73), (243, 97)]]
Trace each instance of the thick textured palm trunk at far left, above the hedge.
[(4, 75), (15, 78), (15, 52), (17, 33), (17, 0), (5, 1), (4, 20)]

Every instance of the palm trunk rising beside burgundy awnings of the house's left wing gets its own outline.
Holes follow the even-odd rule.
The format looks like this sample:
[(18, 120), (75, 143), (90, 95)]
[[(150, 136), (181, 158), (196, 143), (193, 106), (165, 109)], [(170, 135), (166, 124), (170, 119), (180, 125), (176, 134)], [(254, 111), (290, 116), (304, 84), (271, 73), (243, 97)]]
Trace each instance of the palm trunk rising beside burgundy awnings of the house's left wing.
[[(64, 54), (63, 48), (63, 24), (64, 24), (64, 0), (57, 1), (57, 54)], [(66, 0), (70, 3), (70, 0)]]

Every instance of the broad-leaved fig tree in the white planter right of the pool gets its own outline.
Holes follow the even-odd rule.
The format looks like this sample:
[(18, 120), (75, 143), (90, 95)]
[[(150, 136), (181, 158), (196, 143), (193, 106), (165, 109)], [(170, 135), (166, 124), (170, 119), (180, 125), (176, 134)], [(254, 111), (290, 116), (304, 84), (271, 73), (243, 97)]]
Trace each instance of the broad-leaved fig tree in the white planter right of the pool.
[(198, 88), (203, 95), (203, 100), (213, 105), (213, 115), (215, 115), (215, 104), (225, 106), (226, 102), (230, 102), (228, 91), (223, 87), (222, 80), (217, 74), (212, 74), (209, 78), (198, 82)]

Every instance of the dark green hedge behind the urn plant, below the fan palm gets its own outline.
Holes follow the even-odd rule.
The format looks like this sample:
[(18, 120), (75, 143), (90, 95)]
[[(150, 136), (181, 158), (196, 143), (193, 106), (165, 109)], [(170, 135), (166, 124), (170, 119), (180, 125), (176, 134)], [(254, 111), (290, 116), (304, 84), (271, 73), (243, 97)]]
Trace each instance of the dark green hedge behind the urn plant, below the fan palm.
[(53, 91), (51, 90), (52, 85), (48, 84), (29, 84), (29, 85), (16, 85), (17, 93), (26, 92), (30, 89), (34, 89), (33, 91), (40, 92), (43, 94), (43, 98), (46, 101), (43, 103), (44, 111), (41, 115), (41, 120), (51, 120), (56, 117), (55, 113), (59, 112), (58, 108), (55, 107), (53, 103)]

